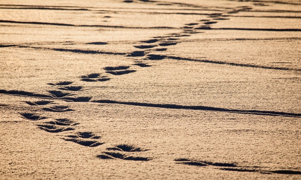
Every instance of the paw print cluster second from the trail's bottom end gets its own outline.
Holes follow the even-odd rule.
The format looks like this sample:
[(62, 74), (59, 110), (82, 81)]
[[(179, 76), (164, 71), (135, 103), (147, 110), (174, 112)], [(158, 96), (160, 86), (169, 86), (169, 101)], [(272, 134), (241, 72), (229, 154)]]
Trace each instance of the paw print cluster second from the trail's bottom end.
[(88, 146), (88, 147), (96, 147), (103, 144), (103, 142), (94, 140), (94, 139), (100, 139), (100, 136), (96, 136), (92, 132), (77, 132), (75, 133), (75, 135), (68, 135), (67, 137), (69, 138), (65, 138), (64, 140), (72, 141), (77, 144)]

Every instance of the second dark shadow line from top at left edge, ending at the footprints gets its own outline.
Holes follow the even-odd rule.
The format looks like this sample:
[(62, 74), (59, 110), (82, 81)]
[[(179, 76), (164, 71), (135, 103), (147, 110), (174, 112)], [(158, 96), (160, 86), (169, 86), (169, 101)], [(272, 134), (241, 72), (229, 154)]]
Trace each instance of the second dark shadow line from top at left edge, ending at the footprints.
[(64, 23), (22, 22), (22, 21), (6, 21), (6, 20), (0, 20), (0, 23), (70, 26), (70, 27), (121, 28), (121, 29), (122, 28), (123, 29), (177, 29), (177, 28), (172, 28), (172, 27), (125, 27), (125, 26), (103, 26), (103, 25), (72, 25), (72, 24), (64, 24)]

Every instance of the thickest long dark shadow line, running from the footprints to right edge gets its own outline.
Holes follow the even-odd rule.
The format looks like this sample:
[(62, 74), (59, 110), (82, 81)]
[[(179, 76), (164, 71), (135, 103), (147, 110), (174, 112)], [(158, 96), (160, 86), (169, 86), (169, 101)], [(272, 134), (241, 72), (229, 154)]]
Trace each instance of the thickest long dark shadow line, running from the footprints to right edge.
[(112, 100), (94, 100), (91, 102), (106, 103), (106, 104), (123, 104), (143, 107), (158, 107), (167, 109), (192, 109), (192, 110), (206, 110), (206, 111), (218, 111), (218, 112), (230, 112), (230, 113), (243, 113), (253, 115), (268, 115), (268, 116), (285, 116), (285, 117), (301, 117), (298, 113), (278, 112), (278, 111), (260, 111), (260, 110), (239, 110), (239, 109), (226, 109), (210, 106), (183, 106), (176, 104), (153, 104), (153, 103), (140, 103), (140, 102), (121, 102)]

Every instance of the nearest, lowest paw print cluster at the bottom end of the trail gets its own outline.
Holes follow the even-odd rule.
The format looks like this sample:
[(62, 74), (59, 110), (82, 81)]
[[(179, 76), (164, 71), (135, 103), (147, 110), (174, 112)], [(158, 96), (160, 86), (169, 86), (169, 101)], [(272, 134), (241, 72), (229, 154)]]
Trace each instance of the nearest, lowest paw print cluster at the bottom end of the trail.
[[(141, 152), (146, 151), (148, 149), (141, 149), (139, 147), (133, 147), (131, 145), (120, 144), (115, 147), (109, 147), (107, 150), (113, 151), (121, 151), (121, 152)], [(123, 159), (123, 160), (138, 160), (138, 161), (148, 161), (152, 160), (149, 157), (139, 157), (139, 156), (132, 156), (129, 153), (120, 153), (120, 152), (111, 152), (105, 151), (102, 154), (97, 155), (100, 159)]]

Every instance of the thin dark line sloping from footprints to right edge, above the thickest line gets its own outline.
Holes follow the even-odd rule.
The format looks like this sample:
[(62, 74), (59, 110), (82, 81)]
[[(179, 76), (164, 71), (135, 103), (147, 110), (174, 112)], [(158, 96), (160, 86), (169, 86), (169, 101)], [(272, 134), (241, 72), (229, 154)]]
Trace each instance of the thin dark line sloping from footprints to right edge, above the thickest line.
[(282, 67), (269, 67), (269, 66), (259, 66), (259, 65), (251, 65), (251, 64), (240, 64), (240, 63), (228, 63), (228, 62), (223, 62), (223, 61), (212, 61), (212, 60), (196, 60), (196, 59), (181, 58), (181, 57), (176, 57), (176, 56), (167, 56), (166, 58), (175, 59), (175, 60), (184, 60), (184, 61), (212, 63), (212, 64), (224, 64), (224, 65), (240, 66), (240, 67), (301, 71), (301, 69), (291, 69), (291, 68), (282, 68)]

